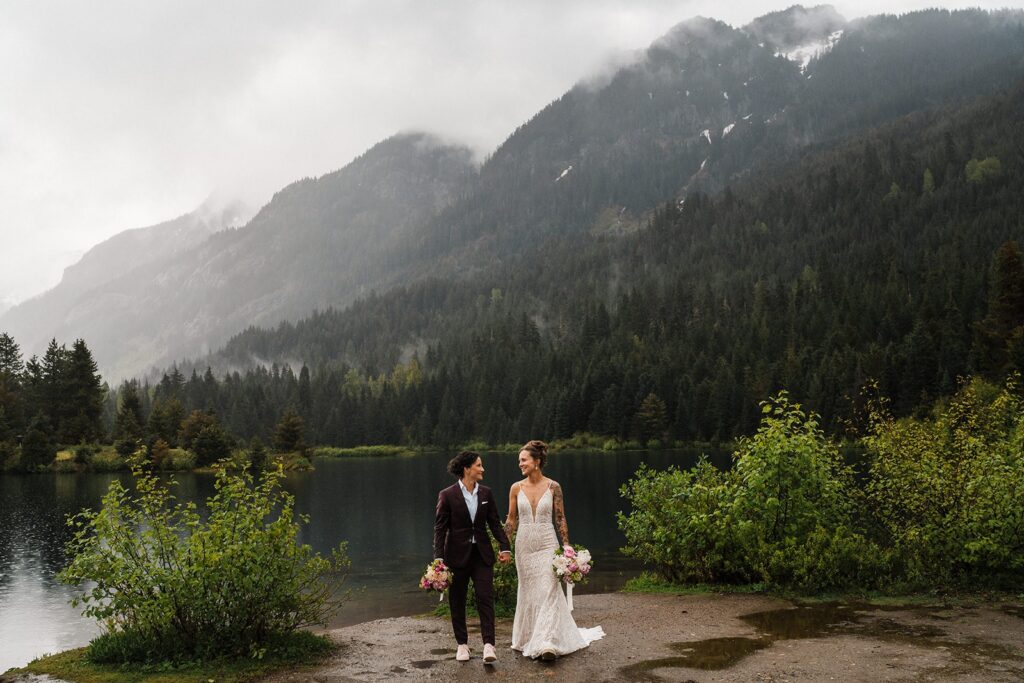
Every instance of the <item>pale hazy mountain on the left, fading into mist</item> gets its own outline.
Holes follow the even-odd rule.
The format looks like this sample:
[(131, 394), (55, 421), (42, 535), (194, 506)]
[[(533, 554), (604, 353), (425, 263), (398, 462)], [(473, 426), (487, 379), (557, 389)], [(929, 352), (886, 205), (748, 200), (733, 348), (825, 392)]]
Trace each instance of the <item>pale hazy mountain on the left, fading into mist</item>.
[(244, 227), (199, 233), (190, 214), (118, 236), (69, 268), (66, 283), (8, 311), (0, 329), (27, 352), (50, 337), (84, 338), (113, 379), (202, 354), (249, 326), (366, 293), (386, 272), (389, 250), (474, 173), (467, 148), (395, 136), (344, 169), (285, 187)]

